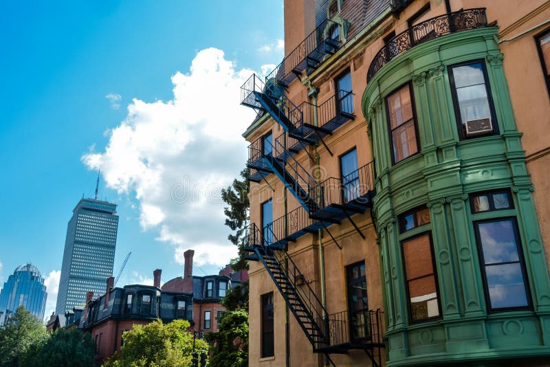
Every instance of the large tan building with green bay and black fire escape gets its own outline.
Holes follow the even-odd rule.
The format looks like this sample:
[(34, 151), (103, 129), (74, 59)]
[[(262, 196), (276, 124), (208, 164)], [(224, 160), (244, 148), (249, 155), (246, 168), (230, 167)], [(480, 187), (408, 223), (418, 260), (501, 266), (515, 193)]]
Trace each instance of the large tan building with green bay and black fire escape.
[(241, 87), (250, 366), (547, 365), (550, 2), (284, 6)]

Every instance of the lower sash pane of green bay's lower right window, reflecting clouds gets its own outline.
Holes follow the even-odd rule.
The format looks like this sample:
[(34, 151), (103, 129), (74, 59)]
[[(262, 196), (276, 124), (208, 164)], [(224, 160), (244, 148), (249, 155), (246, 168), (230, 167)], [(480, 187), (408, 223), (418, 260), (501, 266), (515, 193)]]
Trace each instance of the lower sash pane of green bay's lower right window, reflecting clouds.
[(520, 263), (489, 265), (485, 272), (493, 309), (528, 306)]

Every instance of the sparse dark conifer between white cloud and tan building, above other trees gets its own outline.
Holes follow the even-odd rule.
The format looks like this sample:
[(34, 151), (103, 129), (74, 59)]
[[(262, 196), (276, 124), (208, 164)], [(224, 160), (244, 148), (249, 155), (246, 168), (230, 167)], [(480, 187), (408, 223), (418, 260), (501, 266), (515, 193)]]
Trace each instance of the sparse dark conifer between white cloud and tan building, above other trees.
[(231, 267), (234, 270), (248, 269), (248, 263), (244, 259), (246, 254), (246, 227), (248, 223), (248, 192), (250, 191), (250, 182), (248, 181), (248, 168), (241, 171), (241, 180), (234, 179), (231, 186), (221, 189), (221, 199), (229, 206), (223, 208), (225, 213), (225, 225), (235, 231), (229, 234), (228, 239), (239, 248), (239, 258), (232, 261)]

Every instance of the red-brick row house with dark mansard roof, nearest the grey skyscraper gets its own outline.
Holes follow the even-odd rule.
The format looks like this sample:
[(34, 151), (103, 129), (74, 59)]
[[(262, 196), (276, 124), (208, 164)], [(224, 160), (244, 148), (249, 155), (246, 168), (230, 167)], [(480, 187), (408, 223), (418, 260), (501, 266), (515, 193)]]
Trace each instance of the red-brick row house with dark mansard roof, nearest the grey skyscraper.
[(126, 285), (114, 288), (114, 278), (107, 279), (107, 289), (99, 298), (89, 291), (86, 306), (80, 318), (80, 328), (91, 333), (96, 342), (97, 359), (102, 361), (120, 351), (122, 333), (135, 324), (146, 325), (157, 318), (163, 322), (188, 320), (192, 325), (192, 292), (160, 289), (161, 270), (154, 271), (154, 282), (149, 285)]

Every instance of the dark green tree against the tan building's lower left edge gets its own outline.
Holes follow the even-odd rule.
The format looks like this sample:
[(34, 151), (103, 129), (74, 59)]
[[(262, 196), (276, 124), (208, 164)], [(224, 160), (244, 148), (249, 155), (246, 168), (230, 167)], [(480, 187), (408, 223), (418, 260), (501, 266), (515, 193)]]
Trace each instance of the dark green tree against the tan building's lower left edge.
[(248, 313), (225, 311), (218, 318), (218, 332), (205, 335), (212, 345), (211, 367), (248, 366)]

